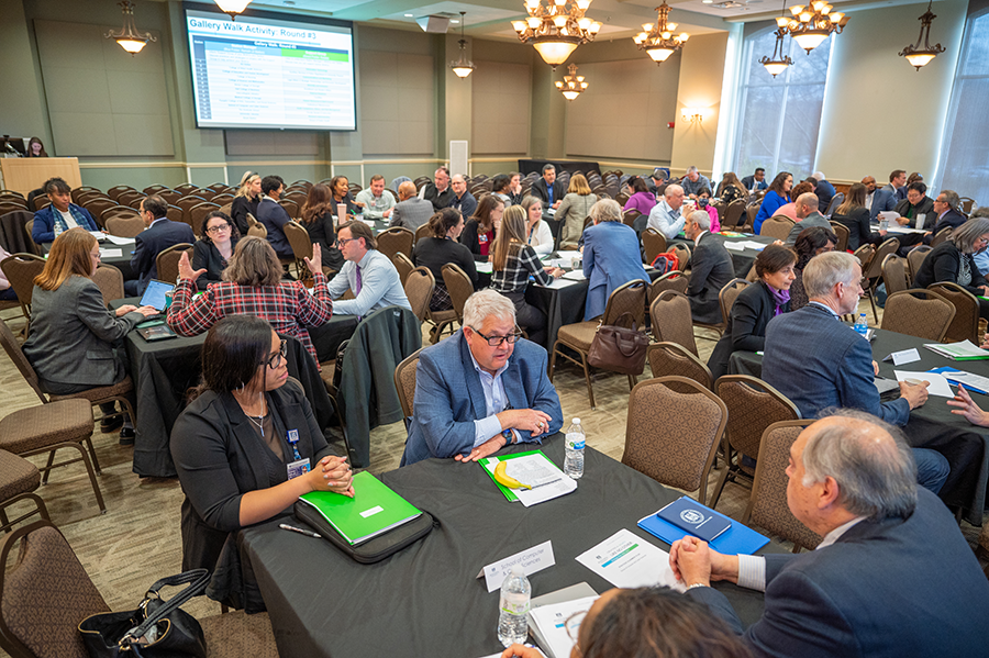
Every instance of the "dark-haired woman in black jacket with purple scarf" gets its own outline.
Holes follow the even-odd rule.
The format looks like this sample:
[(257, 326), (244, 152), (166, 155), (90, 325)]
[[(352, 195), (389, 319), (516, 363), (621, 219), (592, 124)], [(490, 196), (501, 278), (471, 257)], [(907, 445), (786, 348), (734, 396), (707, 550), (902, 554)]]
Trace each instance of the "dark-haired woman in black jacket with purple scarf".
[(756, 276), (759, 280), (746, 286), (727, 319), (724, 335), (714, 346), (708, 368), (716, 380), (727, 373), (733, 352), (759, 352), (766, 344), (766, 325), (769, 321), (790, 311), (790, 283), (797, 254), (789, 248), (771, 244), (756, 257)]

